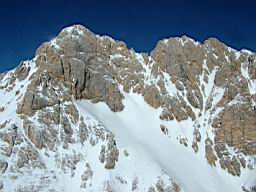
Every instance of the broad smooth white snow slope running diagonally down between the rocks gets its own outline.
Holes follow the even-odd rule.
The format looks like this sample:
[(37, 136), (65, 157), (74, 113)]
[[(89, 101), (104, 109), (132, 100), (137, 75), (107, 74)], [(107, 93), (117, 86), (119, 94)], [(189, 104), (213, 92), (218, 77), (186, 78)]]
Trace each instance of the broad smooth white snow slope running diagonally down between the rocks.
[[(158, 165), (189, 192), (240, 192), (245, 181), (255, 181), (255, 173), (244, 170), (241, 177), (233, 177), (220, 167), (209, 166), (203, 151), (195, 154), (191, 149), (180, 145), (176, 140), (175, 129), (184, 130), (189, 139), (192, 121), (182, 123), (163, 122), (159, 119), (160, 109), (153, 109), (146, 104), (140, 95), (124, 93), (122, 112), (112, 112), (105, 103), (92, 104), (89, 101), (75, 101), (82, 113), (91, 114), (102, 122), (116, 136), (119, 146), (139, 154), (138, 166), (143, 166), (141, 158)], [(170, 126), (170, 137), (160, 131), (160, 124)], [(174, 131), (172, 131), (174, 129)], [(121, 165), (120, 165), (121, 166)], [(132, 168), (132, 166), (131, 166)], [(144, 170), (151, 174), (151, 167)], [(145, 175), (144, 175), (145, 176)], [(142, 190), (143, 191), (143, 190)]]

